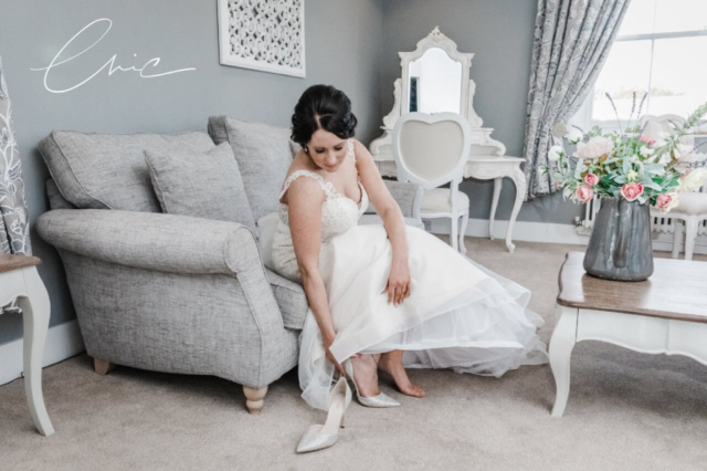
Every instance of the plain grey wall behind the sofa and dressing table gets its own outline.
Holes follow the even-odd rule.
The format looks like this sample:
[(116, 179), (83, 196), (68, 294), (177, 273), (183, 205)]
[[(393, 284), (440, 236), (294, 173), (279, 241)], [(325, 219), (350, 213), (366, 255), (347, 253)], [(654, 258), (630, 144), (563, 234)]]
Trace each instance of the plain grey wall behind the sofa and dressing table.
[[(474, 52), (475, 107), (508, 155), (523, 151), (536, 0), (306, 0), (307, 77), (296, 78), (219, 64), (217, 2), (194, 0), (0, 0), (0, 55), (12, 98), (17, 139), (28, 185), (30, 219), (48, 209), (48, 171), (36, 143), (52, 129), (105, 133), (178, 133), (205, 128), (209, 115), (287, 126), (299, 94), (315, 83), (344, 90), (354, 102), (358, 137), (378, 137), (382, 116), (392, 106), (392, 83), (400, 75), (398, 51), (440, 25), (461, 51)], [(155, 72), (197, 67), (159, 78), (135, 72), (101, 72), (82, 87), (52, 94), (43, 73), (59, 50), (99, 18), (113, 28), (87, 53), (55, 69), (51, 83), (67, 87), (101, 69), (114, 54), (115, 65), (139, 67), (159, 56)], [(75, 54), (99, 36), (85, 34), (67, 53)], [(135, 56), (134, 54), (137, 54)], [(160, 69), (162, 67), (162, 69)], [(508, 219), (513, 185), (506, 182), (498, 219)], [(487, 218), (492, 184), (465, 181), (472, 218)], [(519, 220), (571, 223), (579, 207), (549, 197), (524, 205)], [(43, 259), (40, 274), (52, 300), (51, 325), (74, 318), (63, 268), (54, 250), (33, 233), (33, 250)], [(0, 317), (0, 344), (21, 336), (19, 316)]]

